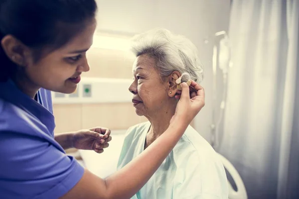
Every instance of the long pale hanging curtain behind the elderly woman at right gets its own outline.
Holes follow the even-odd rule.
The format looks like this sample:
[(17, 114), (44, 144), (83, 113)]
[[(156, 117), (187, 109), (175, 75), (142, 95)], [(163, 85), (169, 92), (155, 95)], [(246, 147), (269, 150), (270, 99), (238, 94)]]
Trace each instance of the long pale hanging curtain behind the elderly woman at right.
[(249, 199), (299, 199), (299, 0), (233, 0), (219, 152)]

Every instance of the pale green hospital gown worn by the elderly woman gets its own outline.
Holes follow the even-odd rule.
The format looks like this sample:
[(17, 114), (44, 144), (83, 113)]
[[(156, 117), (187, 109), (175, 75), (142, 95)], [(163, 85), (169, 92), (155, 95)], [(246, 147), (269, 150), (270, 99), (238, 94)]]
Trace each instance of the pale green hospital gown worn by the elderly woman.
[[(144, 151), (149, 127), (150, 123), (145, 122), (128, 129), (118, 169)], [(149, 182), (132, 199), (227, 198), (227, 178), (220, 159), (210, 144), (188, 126)]]

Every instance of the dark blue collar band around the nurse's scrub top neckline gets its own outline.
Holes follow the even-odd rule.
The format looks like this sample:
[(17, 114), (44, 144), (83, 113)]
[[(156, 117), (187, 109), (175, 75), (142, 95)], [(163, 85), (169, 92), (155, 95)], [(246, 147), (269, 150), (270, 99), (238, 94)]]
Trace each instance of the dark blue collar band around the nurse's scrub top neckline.
[(26, 112), (30, 112), (47, 127), (50, 133), (54, 131), (54, 115), (42, 106), (42, 104), (21, 92), (12, 80), (9, 79), (7, 82), (0, 83), (0, 98), (18, 106)]

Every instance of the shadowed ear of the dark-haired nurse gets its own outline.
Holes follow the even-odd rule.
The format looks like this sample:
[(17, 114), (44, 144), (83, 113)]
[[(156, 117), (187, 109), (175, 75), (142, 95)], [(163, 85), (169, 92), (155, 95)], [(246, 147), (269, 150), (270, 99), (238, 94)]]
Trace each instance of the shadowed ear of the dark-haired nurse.
[(30, 49), (12, 35), (5, 35), (1, 46), (7, 57), (18, 66), (26, 66)]

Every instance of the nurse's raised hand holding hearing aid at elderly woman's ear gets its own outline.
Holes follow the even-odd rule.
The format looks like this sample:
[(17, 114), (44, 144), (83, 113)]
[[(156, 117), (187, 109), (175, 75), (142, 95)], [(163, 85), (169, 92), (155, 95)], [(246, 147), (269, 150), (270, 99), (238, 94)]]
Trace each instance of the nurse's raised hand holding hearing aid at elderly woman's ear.
[[(181, 94), (175, 96), (179, 101), (170, 123), (178, 119), (189, 124), (205, 104), (204, 89), (193, 80), (190, 80), (190, 78), (184, 78), (183, 75), (180, 77), (179, 81), (177, 81), (177, 86), (179, 85)], [(190, 94), (189, 87), (194, 89), (195, 92)]]

